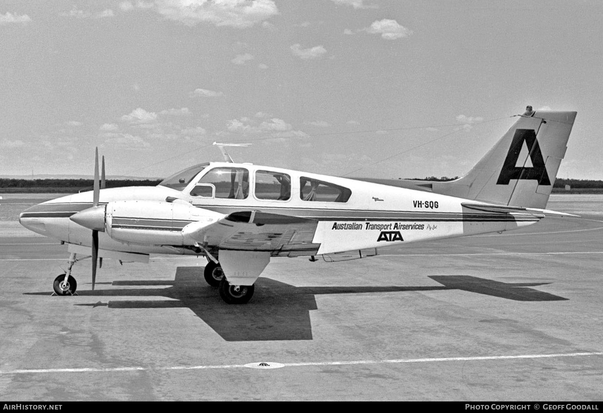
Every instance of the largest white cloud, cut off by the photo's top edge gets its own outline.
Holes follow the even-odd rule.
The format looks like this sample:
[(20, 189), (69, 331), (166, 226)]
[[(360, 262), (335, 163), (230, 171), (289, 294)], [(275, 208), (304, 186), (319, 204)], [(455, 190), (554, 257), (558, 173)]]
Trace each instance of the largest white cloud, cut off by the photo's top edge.
[(248, 28), (279, 14), (273, 0), (157, 0), (154, 9), (188, 26), (212, 23), (236, 28)]

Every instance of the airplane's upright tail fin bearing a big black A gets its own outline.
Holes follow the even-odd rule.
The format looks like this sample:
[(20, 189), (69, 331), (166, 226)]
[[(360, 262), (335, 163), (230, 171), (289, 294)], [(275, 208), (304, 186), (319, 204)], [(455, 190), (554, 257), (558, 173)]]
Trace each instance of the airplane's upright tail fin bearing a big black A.
[(432, 191), (499, 205), (545, 208), (576, 112), (531, 109), (467, 175), (434, 182)]

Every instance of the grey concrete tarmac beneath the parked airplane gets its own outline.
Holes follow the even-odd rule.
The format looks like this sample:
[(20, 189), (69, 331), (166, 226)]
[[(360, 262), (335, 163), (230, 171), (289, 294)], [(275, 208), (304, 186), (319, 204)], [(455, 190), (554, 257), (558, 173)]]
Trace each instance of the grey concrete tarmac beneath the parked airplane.
[(78, 295), (51, 296), (66, 247), (19, 235), (0, 235), (2, 400), (603, 400), (601, 214), (276, 258), (241, 306), (174, 256), (105, 260), (94, 291), (81, 261)]

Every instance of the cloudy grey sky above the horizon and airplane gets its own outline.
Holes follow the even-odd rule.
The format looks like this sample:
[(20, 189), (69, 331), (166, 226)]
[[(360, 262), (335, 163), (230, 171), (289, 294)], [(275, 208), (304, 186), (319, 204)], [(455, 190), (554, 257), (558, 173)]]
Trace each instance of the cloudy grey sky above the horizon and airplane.
[(603, 179), (603, 2), (0, 0), (0, 176), (461, 176), (526, 105)]

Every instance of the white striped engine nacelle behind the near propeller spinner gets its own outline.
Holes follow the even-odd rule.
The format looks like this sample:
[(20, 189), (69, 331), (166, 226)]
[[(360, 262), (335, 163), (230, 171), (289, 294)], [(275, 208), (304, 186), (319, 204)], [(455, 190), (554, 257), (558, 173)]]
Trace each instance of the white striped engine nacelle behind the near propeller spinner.
[(107, 204), (105, 231), (125, 243), (181, 246), (185, 244), (182, 230), (186, 225), (210, 225), (222, 217), (224, 214), (178, 200), (113, 201)]

